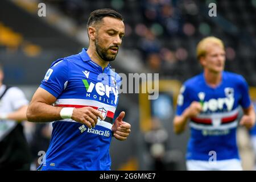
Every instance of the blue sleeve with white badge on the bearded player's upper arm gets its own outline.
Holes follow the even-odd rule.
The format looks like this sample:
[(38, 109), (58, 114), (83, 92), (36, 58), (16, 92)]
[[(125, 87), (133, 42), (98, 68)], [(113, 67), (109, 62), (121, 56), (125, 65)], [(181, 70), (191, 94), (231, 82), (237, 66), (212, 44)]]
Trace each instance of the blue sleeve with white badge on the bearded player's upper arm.
[(47, 90), (54, 97), (63, 92), (65, 83), (68, 81), (68, 61), (66, 59), (53, 62), (48, 69), (40, 87)]

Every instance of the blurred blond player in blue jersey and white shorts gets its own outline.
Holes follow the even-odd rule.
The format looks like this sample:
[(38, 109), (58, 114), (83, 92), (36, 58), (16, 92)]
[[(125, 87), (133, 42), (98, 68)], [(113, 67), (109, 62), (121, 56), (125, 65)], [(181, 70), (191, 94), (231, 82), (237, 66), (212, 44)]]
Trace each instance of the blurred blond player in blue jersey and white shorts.
[[(241, 75), (224, 71), (224, 44), (213, 36), (197, 45), (203, 73), (185, 81), (177, 99), (175, 133), (187, 122), (191, 138), (187, 146), (188, 170), (242, 170), (238, 154), (238, 123), (254, 126), (255, 113), (248, 86)], [(238, 121), (239, 106), (243, 116)]]

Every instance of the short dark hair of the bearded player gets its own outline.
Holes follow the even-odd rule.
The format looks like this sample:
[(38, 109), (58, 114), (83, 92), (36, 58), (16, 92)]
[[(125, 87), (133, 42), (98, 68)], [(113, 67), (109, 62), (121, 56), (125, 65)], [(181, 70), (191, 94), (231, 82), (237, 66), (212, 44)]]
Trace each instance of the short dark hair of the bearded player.
[(123, 16), (113, 9), (98, 9), (90, 13), (90, 16), (87, 22), (87, 29), (92, 24), (101, 22), (102, 18), (106, 16), (117, 18), (123, 21)]

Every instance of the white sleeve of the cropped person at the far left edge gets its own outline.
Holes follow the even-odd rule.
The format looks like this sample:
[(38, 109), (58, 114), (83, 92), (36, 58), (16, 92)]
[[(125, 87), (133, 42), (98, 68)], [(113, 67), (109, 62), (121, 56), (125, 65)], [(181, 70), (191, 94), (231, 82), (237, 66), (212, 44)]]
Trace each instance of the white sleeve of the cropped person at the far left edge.
[(14, 110), (18, 110), (20, 107), (28, 105), (28, 100), (22, 90), (18, 87), (12, 87), (7, 92), (9, 92), (8, 95), (11, 96), (11, 106), (13, 106)]

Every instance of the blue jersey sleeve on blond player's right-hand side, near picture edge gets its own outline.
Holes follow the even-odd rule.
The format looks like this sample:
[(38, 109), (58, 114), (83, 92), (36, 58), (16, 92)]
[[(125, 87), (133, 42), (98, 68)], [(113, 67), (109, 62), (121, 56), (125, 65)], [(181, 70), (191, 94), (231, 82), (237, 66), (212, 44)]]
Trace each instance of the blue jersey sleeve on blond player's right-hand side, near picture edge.
[(249, 96), (248, 84), (242, 76), (240, 77), (239, 89), (241, 90), (241, 101), (240, 104), (244, 109), (247, 109), (251, 105), (251, 100)]

